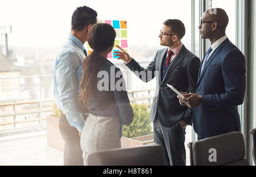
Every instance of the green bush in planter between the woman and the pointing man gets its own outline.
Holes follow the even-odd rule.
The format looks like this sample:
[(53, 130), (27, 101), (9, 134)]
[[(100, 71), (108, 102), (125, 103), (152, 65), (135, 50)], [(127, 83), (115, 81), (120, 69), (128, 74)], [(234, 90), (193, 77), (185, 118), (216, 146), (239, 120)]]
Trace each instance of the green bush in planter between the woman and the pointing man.
[(131, 104), (133, 107), (133, 123), (129, 126), (123, 125), (122, 136), (127, 138), (134, 138), (152, 134), (152, 127), (150, 121), (150, 111), (148, 111), (146, 104)]

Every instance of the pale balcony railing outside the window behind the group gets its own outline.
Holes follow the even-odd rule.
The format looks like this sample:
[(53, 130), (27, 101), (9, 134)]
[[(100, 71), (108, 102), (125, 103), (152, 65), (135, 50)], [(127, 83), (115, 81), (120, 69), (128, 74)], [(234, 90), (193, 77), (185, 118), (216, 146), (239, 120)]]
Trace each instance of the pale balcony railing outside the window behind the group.
[[(8, 130), (18, 130), (33, 127), (39, 127), (41, 129), (46, 128), (46, 117), (47, 115), (51, 115), (52, 113), (53, 99), (51, 99), (51, 94), (49, 94), (51, 95), (51, 98), (43, 99), (45, 95), (43, 79), (47, 78), (47, 80), (52, 82), (52, 75), (0, 78), (0, 87), (1, 82), (6, 80), (14, 80), (16, 81), (16, 83), (15, 85), (13, 85), (13, 88), (16, 88), (16, 92), (20, 92), (20, 94), (22, 94), (22, 92), (26, 92), (26, 89), (22, 90), (22, 88), (27, 85), (26, 83), (24, 84), (24, 81), (22, 83), (20, 80), (26, 78), (30, 79), (28, 81), (37, 81), (34, 85), (31, 85), (32, 87), (38, 88), (35, 91), (36, 99), (0, 102), (0, 110), (2, 110), (0, 112), (0, 133), (6, 132)], [(51, 84), (48, 83), (48, 85)], [(30, 90), (30, 88), (27, 88), (27, 90)], [(152, 99), (154, 98), (154, 96), (152, 96), (154, 94), (154, 90), (155, 89), (145, 89), (137, 91), (130, 90), (127, 92), (131, 103), (143, 102), (147, 104), (148, 108), (150, 108)], [(5, 93), (2, 92), (1, 94), (3, 95)]]

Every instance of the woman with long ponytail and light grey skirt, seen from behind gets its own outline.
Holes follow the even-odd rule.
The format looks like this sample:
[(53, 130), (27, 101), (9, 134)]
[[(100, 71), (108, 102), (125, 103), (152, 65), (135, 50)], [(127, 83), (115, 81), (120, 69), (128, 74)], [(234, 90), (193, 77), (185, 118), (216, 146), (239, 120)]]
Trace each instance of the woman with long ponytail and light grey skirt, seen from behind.
[(133, 121), (122, 73), (106, 59), (114, 40), (115, 30), (110, 24), (97, 23), (89, 29), (88, 43), (93, 52), (82, 62), (79, 95), (80, 103), (89, 113), (81, 134), (84, 155), (121, 147), (122, 124)]

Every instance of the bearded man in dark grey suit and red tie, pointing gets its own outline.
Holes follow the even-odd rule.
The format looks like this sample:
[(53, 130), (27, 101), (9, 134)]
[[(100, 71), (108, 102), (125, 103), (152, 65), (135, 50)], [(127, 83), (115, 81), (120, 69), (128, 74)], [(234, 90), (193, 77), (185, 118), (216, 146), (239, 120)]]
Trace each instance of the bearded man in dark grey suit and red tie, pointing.
[(156, 90), (151, 108), (154, 125), (154, 141), (162, 145), (166, 155), (166, 165), (185, 165), (185, 127), (192, 125), (192, 112), (179, 104), (176, 94), (167, 83), (179, 91), (195, 92), (200, 60), (181, 43), (185, 35), (184, 24), (170, 19), (160, 30), (160, 45), (168, 48), (158, 50), (148, 65), (142, 68), (122, 48), (115, 56), (126, 62), (143, 82), (156, 77)]

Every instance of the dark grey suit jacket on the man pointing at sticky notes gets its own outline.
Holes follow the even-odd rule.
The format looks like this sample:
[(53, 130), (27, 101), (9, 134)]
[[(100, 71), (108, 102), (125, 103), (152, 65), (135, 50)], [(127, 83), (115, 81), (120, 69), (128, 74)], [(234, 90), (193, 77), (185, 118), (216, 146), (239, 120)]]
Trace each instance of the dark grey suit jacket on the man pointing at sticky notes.
[[(160, 123), (164, 127), (172, 127), (180, 120), (192, 125), (192, 109), (181, 106), (176, 93), (166, 84), (174, 86), (180, 92), (195, 92), (200, 60), (183, 45), (162, 80), (162, 66), (167, 51), (168, 48), (158, 50), (147, 69), (142, 68), (134, 59), (126, 66), (143, 82), (149, 82), (156, 77), (155, 96), (150, 113), (152, 122), (158, 113)], [(146, 77), (143, 77), (145, 75)]]

